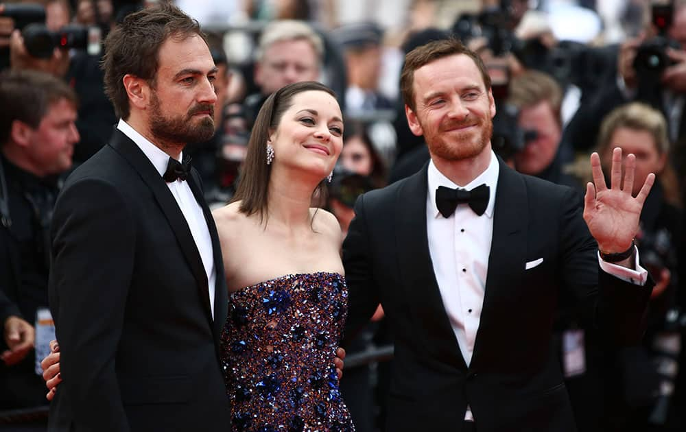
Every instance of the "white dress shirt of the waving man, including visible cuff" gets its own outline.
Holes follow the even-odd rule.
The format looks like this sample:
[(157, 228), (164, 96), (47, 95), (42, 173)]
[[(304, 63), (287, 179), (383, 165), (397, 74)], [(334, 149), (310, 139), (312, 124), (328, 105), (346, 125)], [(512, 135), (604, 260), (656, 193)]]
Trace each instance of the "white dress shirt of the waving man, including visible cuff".
[[(496, 187), (500, 167), (493, 151), (486, 171), (469, 184), (459, 185), (451, 182), (429, 162), (427, 180), (427, 235), (429, 254), (434, 264), (434, 274), (440, 296), (448, 315), (453, 332), (460, 346), (460, 352), (469, 367), (474, 351), (474, 343), (479, 329), (481, 311), (484, 306), (488, 257), (493, 241), (493, 210), (495, 208)], [(458, 205), (455, 213), (443, 217), (436, 207), (436, 189), (449, 188), (474, 189), (480, 184), (490, 188), (488, 206), (482, 216), (478, 216), (468, 205)], [(623, 280), (643, 285), (648, 272), (640, 267), (636, 254), (637, 270), (605, 263), (598, 256), (600, 266), (605, 272)], [(467, 407), (465, 420), (472, 420), (471, 409)]]

